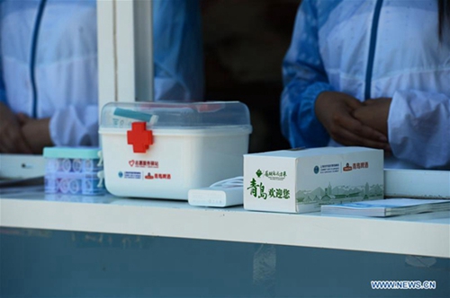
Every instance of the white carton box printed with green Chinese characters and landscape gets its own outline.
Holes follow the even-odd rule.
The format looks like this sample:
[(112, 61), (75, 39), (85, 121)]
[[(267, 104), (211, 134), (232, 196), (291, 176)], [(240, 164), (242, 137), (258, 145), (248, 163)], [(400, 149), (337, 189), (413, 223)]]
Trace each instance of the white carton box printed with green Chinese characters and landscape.
[(383, 150), (323, 147), (244, 155), (244, 208), (306, 213), (383, 198)]

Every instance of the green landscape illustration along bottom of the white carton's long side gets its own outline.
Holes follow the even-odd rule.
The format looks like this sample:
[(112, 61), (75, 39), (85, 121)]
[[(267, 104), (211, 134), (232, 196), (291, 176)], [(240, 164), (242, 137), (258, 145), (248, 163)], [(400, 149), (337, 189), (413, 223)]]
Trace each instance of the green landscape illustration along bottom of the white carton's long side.
[(375, 198), (383, 198), (383, 184), (369, 185), (365, 183), (364, 186), (329, 186), (326, 188), (315, 188), (314, 190), (299, 190), (295, 194), (298, 203), (343, 203), (356, 200), (369, 200)]

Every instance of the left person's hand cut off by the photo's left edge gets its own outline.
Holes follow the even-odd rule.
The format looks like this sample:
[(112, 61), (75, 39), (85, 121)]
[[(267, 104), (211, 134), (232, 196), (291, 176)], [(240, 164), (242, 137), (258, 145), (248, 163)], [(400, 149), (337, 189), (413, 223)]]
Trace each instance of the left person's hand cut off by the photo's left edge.
[(0, 152), (31, 154), (18, 118), (3, 102), (0, 102)]

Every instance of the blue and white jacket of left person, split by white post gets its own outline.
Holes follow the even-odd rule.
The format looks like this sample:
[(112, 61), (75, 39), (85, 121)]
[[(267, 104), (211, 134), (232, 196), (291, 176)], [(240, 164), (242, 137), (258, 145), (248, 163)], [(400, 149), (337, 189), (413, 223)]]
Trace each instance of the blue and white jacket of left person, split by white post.
[[(0, 2), (0, 101), (50, 118), (55, 145), (98, 145), (96, 2), (47, 0), (39, 18), (41, 4)], [(198, 1), (153, 5), (156, 101), (202, 101)]]

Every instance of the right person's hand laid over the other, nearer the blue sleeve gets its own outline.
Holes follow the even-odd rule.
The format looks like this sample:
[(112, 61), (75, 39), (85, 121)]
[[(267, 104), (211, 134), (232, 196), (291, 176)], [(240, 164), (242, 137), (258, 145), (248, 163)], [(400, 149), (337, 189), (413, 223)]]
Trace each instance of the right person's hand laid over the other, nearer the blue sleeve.
[(329, 136), (342, 145), (390, 150), (387, 136), (353, 116), (364, 103), (342, 92), (321, 92), (315, 112)]

